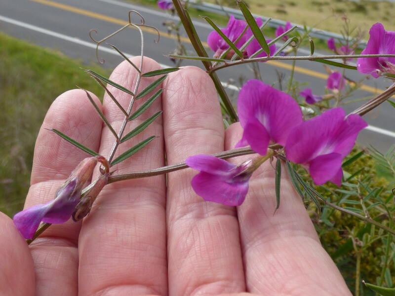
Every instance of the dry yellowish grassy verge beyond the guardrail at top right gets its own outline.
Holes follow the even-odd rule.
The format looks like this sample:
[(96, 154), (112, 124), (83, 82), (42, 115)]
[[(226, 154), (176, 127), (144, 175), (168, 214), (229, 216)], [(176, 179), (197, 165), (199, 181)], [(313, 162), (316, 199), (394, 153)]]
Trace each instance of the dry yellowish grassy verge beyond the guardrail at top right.
[[(236, 0), (205, 0), (235, 7)], [(376, 23), (383, 23), (387, 30), (395, 30), (394, 3), (388, 1), (347, 0), (244, 0), (256, 14), (287, 20), (297, 24), (341, 33), (344, 22), (350, 19), (351, 27), (367, 32)], [(325, 20), (325, 21), (322, 21)], [(319, 24), (317, 26), (317, 24)]]

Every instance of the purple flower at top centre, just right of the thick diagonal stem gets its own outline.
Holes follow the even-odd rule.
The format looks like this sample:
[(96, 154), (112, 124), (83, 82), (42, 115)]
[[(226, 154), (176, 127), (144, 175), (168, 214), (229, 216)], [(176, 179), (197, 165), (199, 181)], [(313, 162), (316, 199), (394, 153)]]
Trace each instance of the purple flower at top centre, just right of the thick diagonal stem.
[[(235, 42), (237, 37), (241, 35), (246, 23), (242, 20), (237, 20), (233, 15), (229, 18), (228, 25), (226, 25), (225, 29), (221, 29), (221, 31), (228, 37), (232, 42)], [(237, 48), (241, 47), (245, 43), (245, 34), (240, 40), (235, 44)], [(229, 44), (217, 33), (217, 31), (212, 31), (207, 36), (207, 44), (208, 46), (216, 52), (215, 56), (221, 55), (223, 51), (229, 48)]]

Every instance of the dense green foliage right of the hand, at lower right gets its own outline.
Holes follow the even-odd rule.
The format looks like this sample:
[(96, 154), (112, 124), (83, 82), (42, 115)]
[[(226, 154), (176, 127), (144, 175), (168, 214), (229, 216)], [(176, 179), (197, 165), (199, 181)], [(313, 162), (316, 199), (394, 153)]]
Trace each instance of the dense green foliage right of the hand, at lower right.
[[(384, 154), (376, 150), (360, 153), (360, 150), (354, 149), (343, 166), (346, 180), (342, 187), (327, 183), (324, 186), (316, 186), (316, 191), (332, 204), (393, 229), (395, 206), (392, 188), (395, 175), (392, 171), (391, 174), (376, 173), (378, 164), (387, 163), (391, 168), (390, 164), (394, 163), (390, 161), (388, 164), (386, 159), (393, 160), (393, 155), (394, 148)], [(313, 186), (307, 181), (309, 177), (303, 168), (299, 167), (296, 171), (303, 176), (307, 186)], [(319, 212), (316, 202), (309, 199), (309, 194), (306, 197), (309, 213), (321, 243), (339, 267), (351, 291), (354, 291), (356, 286), (358, 253), (361, 255), (358, 281), (365, 280), (379, 286), (392, 287), (395, 275), (395, 243), (392, 235), (378, 226), (360, 221), (329, 206), (324, 206)], [(364, 288), (363, 295), (374, 293)]]

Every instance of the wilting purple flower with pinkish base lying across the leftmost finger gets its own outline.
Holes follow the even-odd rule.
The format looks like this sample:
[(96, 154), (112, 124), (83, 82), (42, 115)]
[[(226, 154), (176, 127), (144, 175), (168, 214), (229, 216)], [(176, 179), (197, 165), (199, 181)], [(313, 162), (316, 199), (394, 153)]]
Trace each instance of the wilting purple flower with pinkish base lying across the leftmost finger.
[(14, 224), (24, 238), (33, 238), (41, 221), (61, 224), (69, 220), (79, 202), (82, 187), (91, 178), (98, 161), (103, 163), (108, 171), (108, 162), (103, 156), (87, 157), (79, 163), (65, 184), (59, 188), (55, 199), (23, 210), (14, 216)]

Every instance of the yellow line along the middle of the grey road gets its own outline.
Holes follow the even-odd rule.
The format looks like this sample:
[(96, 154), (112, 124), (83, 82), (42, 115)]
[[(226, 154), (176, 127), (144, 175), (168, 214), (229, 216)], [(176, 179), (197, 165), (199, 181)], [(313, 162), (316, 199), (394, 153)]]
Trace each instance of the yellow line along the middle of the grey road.
[[(104, 15), (104, 14), (101, 14), (101, 13), (96, 13), (96, 12), (93, 12), (93, 11), (90, 11), (90, 10), (86, 10), (86, 9), (81, 9), (81, 8), (78, 8), (78, 7), (75, 7), (75, 6), (62, 4), (62, 3), (51, 1), (51, 0), (30, 0), (30, 1), (38, 2), (38, 3), (44, 4), (44, 5), (56, 7), (56, 8), (62, 9), (62, 10), (71, 11), (71, 12), (78, 13), (78, 14), (81, 14), (81, 15), (89, 16), (89, 17), (92, 17), (92, 18), (95, 18), (95, 19), (99, 19), (99, 20), (102, 20), (102, 21), (106, 21), (106, 22), (109, 22), (109, 23), (114, 23), (114, 24), (118, 24), (118, 25), (122, 25), (122, 26), (127, 24), (126, 21), (117, 19), (115, 17), (111, 17), (111, 16)], [(154, 30), (152, 28), (141, 27), (141, 30), (144, 31), (144, 32), (147, 32), (147, 33), (154, 34), (154, 35), (157, 34), (156, 30)], [(167, 32), (159, 31), (159, 34), (160, 34), (160, 36), (163, 36), (163, 37), (167, 37), (167, 38), (170, 38), (170, 39), (176, 39), (175, 36), (170, 35)], [(191, 40), (189, 38), (187, 38), (187, 37), (181, 37), (181, 40), (184, 41), (184, 42), (187, 42), (187, 43), (191, 43)], [(203, 46), (208, 47), (206, 42), (202, 42), (202, 44), (203, 44)], [(276, 66), (278, 68), (282, 68), (282, 69), (286, 69), (286, 70), (292, 70), (292, 66), (291, 65), (285, 64), (283, 62), (268, 61), (267, 63), (269, 65), (273, 65), (273, 66)], [(301, 74), (306, 74), (306, 75), (313, 76), (313, 77), (316, 77), (316, 78), (321, 78), (321, 79), (327, 79), (328, 78), (327, 74), (322, 74), (320, 72), (317, 72), (317, 71), (314, 71), (314, 70), (310, 70), (310, 69), (306, 69), (306, 68), (302, 68), (302, 67), (298, 67), (298, 66), (295, 66), (295, 72), (298, 72), (298, 73), (301, 73)], [(362, 84), (360, 88), (362, 90), (365, 90), (365, 91), (371, 92), (371, 93), (381, 93), (381, 92), (383, 92), (383, 90), (381, 90), (381, 89), (378, 89), (378, 88), (375, 88), (375, 87), (372, 87), (372, 86), (368, 86), (368, 85), (365, 85), (365, 84)]]

